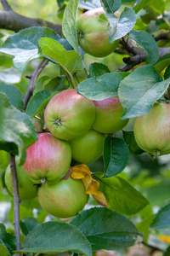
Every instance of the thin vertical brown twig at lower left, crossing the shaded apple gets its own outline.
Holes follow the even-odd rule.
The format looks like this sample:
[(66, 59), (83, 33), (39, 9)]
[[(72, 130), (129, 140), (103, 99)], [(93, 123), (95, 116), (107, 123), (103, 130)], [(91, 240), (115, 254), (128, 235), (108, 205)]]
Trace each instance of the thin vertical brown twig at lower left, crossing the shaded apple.
[[(20, 196), (14, 154), (9, 153), (9, 163), (11, 169), (14, 196), (14, 235), (17, 238), (17, 250), (20, 250)], [(16, 256), (20, 256), (20, 254), (17, 253)]]

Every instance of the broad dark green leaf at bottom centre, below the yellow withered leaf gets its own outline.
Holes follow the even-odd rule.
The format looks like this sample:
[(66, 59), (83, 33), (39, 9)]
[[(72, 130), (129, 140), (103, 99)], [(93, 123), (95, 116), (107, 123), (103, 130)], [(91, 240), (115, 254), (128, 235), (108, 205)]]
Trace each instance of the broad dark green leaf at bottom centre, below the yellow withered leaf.
[(71, 220), (92, 245), (93, 251), (119, 250), (143, 240), (134, 224), (106, 207), (94, 207)]

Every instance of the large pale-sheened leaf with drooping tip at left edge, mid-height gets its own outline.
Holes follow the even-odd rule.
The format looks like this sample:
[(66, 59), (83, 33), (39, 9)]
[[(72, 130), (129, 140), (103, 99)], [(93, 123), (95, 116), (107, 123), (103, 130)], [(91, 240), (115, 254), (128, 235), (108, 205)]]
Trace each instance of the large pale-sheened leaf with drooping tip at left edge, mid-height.
[(26, 113), (20, 112), (0, 93), (0, 149), (19, 154), (20, 165), (26, 160), (26, 148), (37, 140), (34, 125)]

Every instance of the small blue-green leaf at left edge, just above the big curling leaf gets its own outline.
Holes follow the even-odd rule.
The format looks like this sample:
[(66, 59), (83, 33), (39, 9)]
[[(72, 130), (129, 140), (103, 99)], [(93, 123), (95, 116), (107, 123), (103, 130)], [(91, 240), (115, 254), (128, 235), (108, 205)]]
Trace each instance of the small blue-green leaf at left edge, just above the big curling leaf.
[(14, 85), (0, 83), (0, 92), (6, 94), (9, 102), (14, 105), (15, 108), (23, 108), (24, 102), (22, 95), (20, 90), (18, 90)]

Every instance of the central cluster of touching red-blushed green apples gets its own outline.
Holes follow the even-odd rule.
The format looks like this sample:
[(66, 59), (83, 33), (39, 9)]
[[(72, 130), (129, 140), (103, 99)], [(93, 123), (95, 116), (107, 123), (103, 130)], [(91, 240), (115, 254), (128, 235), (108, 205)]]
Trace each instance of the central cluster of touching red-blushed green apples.
[[(88, 202), (82, 180), (68, 175), (71, 160), (88, 164), (103, 153), (105, 134), (120, 131), (128, 120), (122, 120), (118, 97), (92, 101), (69, 89), (59, 92), (48, 102), (44, 112), (50, 132), (38, 135), (36, 143), (26, 149), (24, 169), (29, 198), (37, 195), (42, 208), (59, 218), (75, 216)], [(8, 176), (6, 172), (6, 184)], [(23, 172), (23, 170), (20, 170)], [(20, 175), (19, 189), (20, 188)], [(10, 182), (11, 183), (11, 182)], [(38, 184), (37, 190), (36, 186)], [(25, 189), (26, 187), (22, 188)], [(9, 189), (12, 190), (11, 188)], [(21, 199), (26, 192), (20, 190)]]

